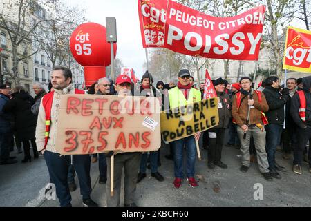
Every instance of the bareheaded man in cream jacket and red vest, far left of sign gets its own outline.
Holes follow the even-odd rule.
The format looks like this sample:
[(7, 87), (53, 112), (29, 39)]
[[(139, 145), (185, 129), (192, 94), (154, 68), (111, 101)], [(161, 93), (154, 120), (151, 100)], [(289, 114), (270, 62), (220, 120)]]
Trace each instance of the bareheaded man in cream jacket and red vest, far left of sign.
[[(61, 95), (84, 94), (83, 90), (77, 90), (73, 87), (72, 78), (70, 69), (60, 66), (53, 68), (51, 83), (54, 91), (44, 95), (41, 100), (36, 128), (37, 148), (44, 155), (50, 180), (55, 184), (56, 195), (61, 207), (72, 206), (67, 182), (70, 156), (61, 156), (55, 146)], [(66, 122), (62, 123), (66, 124)], [(83, 206), (97, 207), (98, 205), (90, 198), (92, 191), (91, 156), (73, 155), (73, 165), (79, 177)]]

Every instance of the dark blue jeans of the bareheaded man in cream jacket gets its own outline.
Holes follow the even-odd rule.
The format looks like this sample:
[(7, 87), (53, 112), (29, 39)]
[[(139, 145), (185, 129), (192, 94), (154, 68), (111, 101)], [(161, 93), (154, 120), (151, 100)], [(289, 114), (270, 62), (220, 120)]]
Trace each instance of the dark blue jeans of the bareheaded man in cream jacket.
[[(70, 156), (60, 156), (59, 153), (44, 151), (44, 159), (48, 166), (50, 180), (56, 187), (56, 195), (61, 207), (68, 206), (71, 202), (71, 195), (68, 187), (68, 169)], [(80, 193), (83, 199), (90, 198), (91, 187), (91, 157), (89, 155), (73, 155), (73, 166), (79, 178)]]

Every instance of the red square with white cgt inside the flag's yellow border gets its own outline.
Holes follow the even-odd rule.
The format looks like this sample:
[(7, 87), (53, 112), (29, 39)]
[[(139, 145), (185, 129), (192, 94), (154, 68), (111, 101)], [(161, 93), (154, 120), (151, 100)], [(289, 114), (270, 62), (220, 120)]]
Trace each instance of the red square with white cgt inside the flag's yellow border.
[[(311, 35), (303, 33), (291, 33), (294, 30), (289, 30), (287, 48), (285, 50), (285, 63), (288, 65), (301, 66), (301, 68), (309, 68), (311, 65)], [(294, 36), (290, 38), (290, 36)], [(298, 34), (298, 35), (297, 35)], [(290, 60), (290, 61), (288, 61)]]

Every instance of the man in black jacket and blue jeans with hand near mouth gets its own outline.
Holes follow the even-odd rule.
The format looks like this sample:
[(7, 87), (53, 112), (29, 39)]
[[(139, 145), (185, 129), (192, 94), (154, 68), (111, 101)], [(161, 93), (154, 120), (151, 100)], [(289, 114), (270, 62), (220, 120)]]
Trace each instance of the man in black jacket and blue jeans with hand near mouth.
[(265, 86), (265, 90), (263, 90), (263, 93), (265, 94), (267, 104), (269, 105), (269, 111), (265, 113), (269, 122), (269, 124), (265, 126), (265, 130), (267, 131), (267, 143), (265, 148), (267, 151), (269, 169), (272, 177), (281, 179), (281, 175), (276, 170), (283, 172), (286, 170), (283, 166), (276, 164), (275, 152), (283, 130), (285, 119), (284, 105), (288, 102), (290, 96), (288, 95), (288, 90), (283, 90), (283, 92), (287, 92), (283, 94), (279, 92), (281, 87), (278, 77), (272, 76), (265, 79), (265, 82), (267, 84)]

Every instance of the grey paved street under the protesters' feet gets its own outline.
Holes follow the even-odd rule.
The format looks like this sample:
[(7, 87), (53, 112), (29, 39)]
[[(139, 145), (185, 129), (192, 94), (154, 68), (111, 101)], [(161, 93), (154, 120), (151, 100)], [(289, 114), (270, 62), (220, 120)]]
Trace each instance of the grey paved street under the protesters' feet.
[[(276, 153), (276, 160), (288, 172), (281, 173), (281, 180), (267, 182), (259, 173), (257, 164), (252, 164), (247, 173), (238, 170), (240, 153), (235, 148), (223, 148), (223, 162), (229, 166), (225, 170), (219, 167), (208, 169), (207, 151), (201, 150), (202, 162), (196, 163), (200, 186), (193, 189), (184, 182), (180, 189), (174, 189), (173, 162), (164, 158), (167, 151), (168, 148), (162, 149), (162, 166), (159, 168), (165, 181), (158, 182), (147, 171), (147, 177), (137, 186), (138, 206), (311, 206), (311, 173), (307, 170), (308, 164), (303, 162), (303, 175), (296, 175), (291, 170), (292, 160), (283, 160), (279, 152)], [(15, 155), (15, 152), (11, 155)], [(20, 161), (22, 154), (17, 157)], [(92, 164), (91, 196), (100, 206), (106, 206), (106, 185), (98, 184), (98, 175), (98, 164)], [(57, 200), (44, 198), (44, 186), (48, 180), (44, 157), (27, 164), (19, 162), (0, 166), (0, 206), (59, 206)], [(78, 185), (77, 178), (76, 183)], [(263, 185), (263, 200), (254, 200), (254, 184), (257, 183)], [(79, 188), (72, 193), (72, 198), (73, 206), (82, 206)]]

